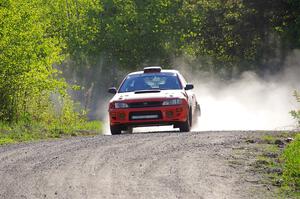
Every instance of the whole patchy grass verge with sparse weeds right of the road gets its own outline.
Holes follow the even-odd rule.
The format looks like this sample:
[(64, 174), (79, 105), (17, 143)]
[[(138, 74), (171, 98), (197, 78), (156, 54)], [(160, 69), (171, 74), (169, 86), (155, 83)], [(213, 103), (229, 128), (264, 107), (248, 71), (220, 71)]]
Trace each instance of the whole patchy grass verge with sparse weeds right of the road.
[[(287, 137), (294, 140), (287, 143)], [(279, 198), (300, 198), (300, 133), (265, 135), (261, 140), (264, 153), (254, 166), (266, 174), (266, 181), (279, 187)], [(276, 140), (282, 140), (285, 147), (279, 147)]]

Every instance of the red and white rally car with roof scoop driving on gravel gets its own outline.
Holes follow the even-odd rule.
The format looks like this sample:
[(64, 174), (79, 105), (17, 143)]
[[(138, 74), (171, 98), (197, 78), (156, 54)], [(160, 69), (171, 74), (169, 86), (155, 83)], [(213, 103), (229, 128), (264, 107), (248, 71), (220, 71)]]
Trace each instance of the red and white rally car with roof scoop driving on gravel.
[(108, 90), (115, 94), (109, 102), (111, 134), (161, 125), (190, 131), (201, 114), (193, 88), (176, 70), (155, 66), (128, 74), (118, 90)]

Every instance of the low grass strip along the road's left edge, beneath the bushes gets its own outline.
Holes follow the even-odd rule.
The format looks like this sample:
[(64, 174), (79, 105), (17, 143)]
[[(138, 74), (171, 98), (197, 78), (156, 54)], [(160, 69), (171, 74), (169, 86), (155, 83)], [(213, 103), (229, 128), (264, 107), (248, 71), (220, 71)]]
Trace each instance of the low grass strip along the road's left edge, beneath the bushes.
[(63, 123), (0, 123), (0, 145), (68, 136), (96, 135), (102, 132), (100, 121)]

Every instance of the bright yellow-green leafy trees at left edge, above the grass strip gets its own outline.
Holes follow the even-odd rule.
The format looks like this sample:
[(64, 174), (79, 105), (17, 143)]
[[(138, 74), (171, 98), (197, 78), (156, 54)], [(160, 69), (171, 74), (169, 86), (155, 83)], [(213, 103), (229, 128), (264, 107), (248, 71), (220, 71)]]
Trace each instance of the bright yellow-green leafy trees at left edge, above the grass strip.
[[(63, 57), (40, 1), (10, 1), (0, 7), (0, 119), (40, 117), (53, 92), (65, 94), (52, 64)], [(47, 104), (47, 102), (46, 102)]]

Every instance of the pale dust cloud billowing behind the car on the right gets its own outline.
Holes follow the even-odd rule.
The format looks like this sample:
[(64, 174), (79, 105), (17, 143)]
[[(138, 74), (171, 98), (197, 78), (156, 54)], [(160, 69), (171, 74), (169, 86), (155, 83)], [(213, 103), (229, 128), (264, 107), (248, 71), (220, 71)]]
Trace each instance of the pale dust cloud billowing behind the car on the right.
[(239, 79), (220, 81), (205, 75), (194, 80), (202, 116), (194, 131), (293, 130), (296, 122), (289, 112), (299, 109), (293, 91), (300, 89), (300, 53), (286, 62), (286, 69), (274, 76), (259, 77), (244, 72)]

